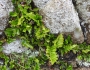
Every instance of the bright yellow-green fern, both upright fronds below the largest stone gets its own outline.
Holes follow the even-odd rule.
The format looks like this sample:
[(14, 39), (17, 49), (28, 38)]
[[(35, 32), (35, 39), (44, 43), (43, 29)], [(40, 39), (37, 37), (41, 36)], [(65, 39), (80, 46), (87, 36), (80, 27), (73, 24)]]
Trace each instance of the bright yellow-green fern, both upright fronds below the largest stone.
[(54, 41), (52, 47), (47, 46), (46, 55), (50, 59), (51, 64), (53, 65), (58, 60), (58, 55), (56, 53), (57, 49), (63, 45), (63, 35), (60, 34)]

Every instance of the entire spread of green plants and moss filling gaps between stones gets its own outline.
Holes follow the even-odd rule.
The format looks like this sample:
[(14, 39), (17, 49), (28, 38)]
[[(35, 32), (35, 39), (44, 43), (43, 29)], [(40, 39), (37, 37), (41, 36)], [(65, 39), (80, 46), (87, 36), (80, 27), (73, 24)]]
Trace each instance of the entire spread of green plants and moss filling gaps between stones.
[[(5, 30), (5, 41), (0, 41), (0, 46), (4, 42), (12, 42), (16, 38), (21, 39), (22, 46), (33, 50), (38, 50), (39, 55), (29, 57), (25, 53), (10, 55), (0, 54), (4, 63), (0, 65), (1, 70), (40, 70), (40, 67), (49, 64), (59, 65), (60, 70), (73, 70), (72, 65), (68, 64), (65, 55), (72, 52), (77, 54), (78, 59), (90, 62), (90, 45), (73, 44), (70, 36), (64, 39), (63, 34), (51, 34), (42, 22), (42, 16), (38, 14), (32, 0), (12, 0), (14, 11), (10, 13), (9, 27)], [(88, 57), (88, 58), (87, 58)]]

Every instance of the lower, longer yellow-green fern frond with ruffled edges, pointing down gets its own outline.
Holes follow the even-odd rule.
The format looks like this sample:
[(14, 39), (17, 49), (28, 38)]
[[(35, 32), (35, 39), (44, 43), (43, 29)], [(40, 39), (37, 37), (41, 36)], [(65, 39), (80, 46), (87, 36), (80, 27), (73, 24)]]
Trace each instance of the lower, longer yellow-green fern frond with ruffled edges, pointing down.
[(58, 60), (58, 55), (56, 53), (55, 46), (52, 47), (47, 46), (46, 55), (50, 59), (52, 65)]

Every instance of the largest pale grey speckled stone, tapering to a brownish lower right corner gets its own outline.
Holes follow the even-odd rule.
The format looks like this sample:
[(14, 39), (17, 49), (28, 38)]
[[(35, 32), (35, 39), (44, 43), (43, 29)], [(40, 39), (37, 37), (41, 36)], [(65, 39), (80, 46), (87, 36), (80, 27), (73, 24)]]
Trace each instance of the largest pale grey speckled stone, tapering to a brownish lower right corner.
[(79, 17), (71, 0), (33, 0), (51, 33), (70, 34), (75, 43), (84, 41)]

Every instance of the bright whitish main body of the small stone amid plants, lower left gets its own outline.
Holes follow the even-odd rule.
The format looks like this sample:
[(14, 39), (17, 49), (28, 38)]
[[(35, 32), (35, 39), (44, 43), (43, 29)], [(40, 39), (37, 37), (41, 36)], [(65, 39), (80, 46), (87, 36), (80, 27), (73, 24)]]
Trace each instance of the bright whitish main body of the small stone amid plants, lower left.
[(26, 48), (22, 47), (21, 40), (17, 39), (11, 43), (5, 43), (3, 45), (3, 52), (7, 55), (10, 53), (22, 53), (26, 50)]

